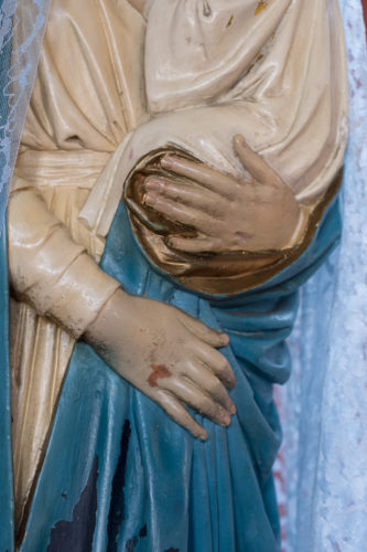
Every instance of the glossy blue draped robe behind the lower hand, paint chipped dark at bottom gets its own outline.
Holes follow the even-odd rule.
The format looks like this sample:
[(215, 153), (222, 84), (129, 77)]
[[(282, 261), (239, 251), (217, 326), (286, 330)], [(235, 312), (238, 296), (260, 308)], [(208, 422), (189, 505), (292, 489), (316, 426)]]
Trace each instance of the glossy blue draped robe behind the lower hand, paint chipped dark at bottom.
[[(261, 287), (235, 297), (184, 289), (153, 267), (123, 203), (101, 267), (130, 294), (174, 305), (230, 338), (222, 352), (237, 386), (228, 428), (195, 414), (209, 438), (195, 440), (150, 399), (118, 376), (85, 342), (74, 348), (21, 552), (276, 552), (280, 527), (272, 465), (281, 428), (273, 383), (290, 374), (284, 339), (298, 288), (341, 232), (338, 203), (326, 209), (307, 250)], [(2, 259), (6, 261), (4, 252)], [(7, 300), (2, 267), (2, 301)], [(2, 312), (6, 312), (6, 302)], [(7, 319), (1, 331), (7, 343)], [(9, 364), (1, 363), (2, 550), (10, 537)], [(8, 489), (8, 490), (3, 490)], [(7, 540), (8, 539), (8, 540)]]

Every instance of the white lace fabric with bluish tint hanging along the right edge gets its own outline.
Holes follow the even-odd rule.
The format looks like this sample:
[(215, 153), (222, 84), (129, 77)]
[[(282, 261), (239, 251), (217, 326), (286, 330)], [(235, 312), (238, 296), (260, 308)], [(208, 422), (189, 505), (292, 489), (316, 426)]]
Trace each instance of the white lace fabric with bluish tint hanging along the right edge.
[(304, 286), (281, 391), (289, 552), (367, 550), (367, 53), (360, 0), (341, 0), (350, 137), (338, 250)]

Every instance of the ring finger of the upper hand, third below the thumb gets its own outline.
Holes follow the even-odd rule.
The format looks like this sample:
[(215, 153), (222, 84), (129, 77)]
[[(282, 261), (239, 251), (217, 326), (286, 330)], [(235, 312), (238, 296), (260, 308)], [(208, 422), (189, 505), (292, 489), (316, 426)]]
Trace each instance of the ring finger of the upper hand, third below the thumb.
[(153, 192), (147, 193), (145, 203), (154, 209), (154, 211), (164, 214), (168, 219), (194, 226), (199, 232), (206, 233), (215, 224), (215, 220), (208, 214), (204, 214), (187, 205), (180, 205)]

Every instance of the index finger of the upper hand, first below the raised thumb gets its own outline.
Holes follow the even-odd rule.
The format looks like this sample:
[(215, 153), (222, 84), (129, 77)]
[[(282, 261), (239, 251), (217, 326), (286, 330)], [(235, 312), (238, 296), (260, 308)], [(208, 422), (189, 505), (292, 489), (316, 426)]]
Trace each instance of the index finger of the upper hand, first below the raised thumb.
[(204, 163), (188, 161), (187, 159), (179, 157), (166, 156), (162, 159), (161, 164), (164, 169), (169, 169), (181, 177), (198, 182), (208, 190), (212, 190), (224, 198), (230, 199), (238, 187), (238, 182), (235, 178), (229, 174), (225, 174), (224, 172), (214, 170)]

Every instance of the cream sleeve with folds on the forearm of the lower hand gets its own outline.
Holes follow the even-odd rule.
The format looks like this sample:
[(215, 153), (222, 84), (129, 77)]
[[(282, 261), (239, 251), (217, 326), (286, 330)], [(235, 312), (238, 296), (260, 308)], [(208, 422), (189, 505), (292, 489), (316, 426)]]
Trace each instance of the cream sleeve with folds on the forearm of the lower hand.
[(72, 238), (35, 188), (11, 193), (8, 229), (10, 285), (15, 297), (79, 338), (119, 283)]

